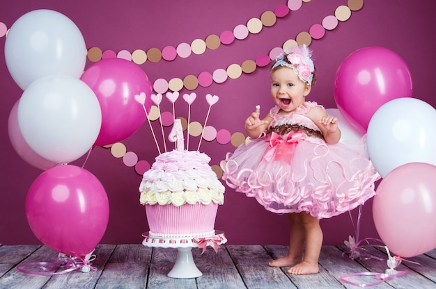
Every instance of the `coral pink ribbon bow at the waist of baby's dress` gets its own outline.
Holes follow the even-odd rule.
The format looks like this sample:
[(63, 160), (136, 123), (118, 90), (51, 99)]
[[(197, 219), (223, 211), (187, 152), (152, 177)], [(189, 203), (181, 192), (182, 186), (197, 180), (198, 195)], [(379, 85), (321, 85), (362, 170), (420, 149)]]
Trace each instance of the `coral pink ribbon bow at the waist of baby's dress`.
[(274, 156), (274, 160), (286, 160), (286, 163), (290, 165), (295, 146), (303, 137), (304, 133), (297, 131), (290, 133), (286, 139), (283, 139), (278, 133), (273, 131), (266, 139), (267, 142), (270, 142), (270, 145), (267, 147), (262, 158), (265, 158), (269, 163)]

